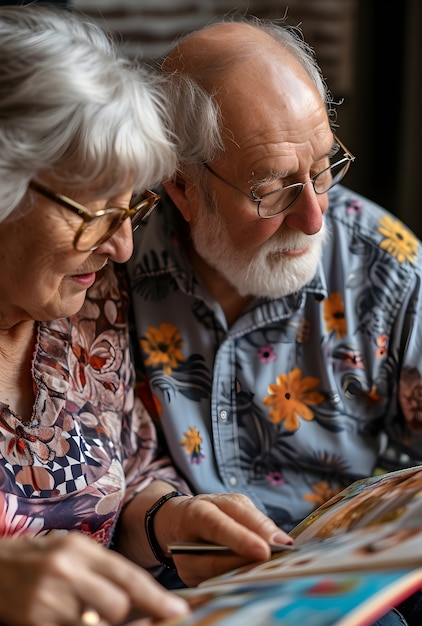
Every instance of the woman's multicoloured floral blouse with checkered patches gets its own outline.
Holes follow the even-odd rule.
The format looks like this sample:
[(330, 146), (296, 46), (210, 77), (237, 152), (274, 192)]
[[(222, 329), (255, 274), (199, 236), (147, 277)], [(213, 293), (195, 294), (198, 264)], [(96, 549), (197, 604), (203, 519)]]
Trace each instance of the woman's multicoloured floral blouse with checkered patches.
[(123, 284), (107, 266), (71, 318), (39, 323), (30, 422), (0, 403), (0, 537), (79, 530), (109, 545), (153, 477), (155, 428), (135, 401)]

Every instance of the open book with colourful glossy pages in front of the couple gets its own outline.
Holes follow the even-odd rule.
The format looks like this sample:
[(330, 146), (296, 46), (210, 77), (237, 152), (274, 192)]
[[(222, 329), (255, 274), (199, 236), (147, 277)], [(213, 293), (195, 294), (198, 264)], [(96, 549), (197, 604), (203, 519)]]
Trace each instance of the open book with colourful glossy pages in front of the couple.
[(356, 481), (290, 534), (293, 549), (180, 590), (193, 612), (171, 624), (370, 626), (422, 589), (422, 466)]

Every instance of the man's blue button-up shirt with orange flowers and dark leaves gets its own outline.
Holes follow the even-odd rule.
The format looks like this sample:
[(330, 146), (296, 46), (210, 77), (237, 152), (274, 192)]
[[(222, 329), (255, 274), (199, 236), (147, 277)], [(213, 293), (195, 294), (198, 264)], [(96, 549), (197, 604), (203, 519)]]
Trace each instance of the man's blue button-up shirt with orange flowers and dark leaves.
[(422, 462), (419, 241), (344, 187), (329, 197), (313, 280), (231, 327), (168, 198), (129, 262), (139, 385), (179, 472), (194, 493), (245, 493), (285, 530), (353, 480)]

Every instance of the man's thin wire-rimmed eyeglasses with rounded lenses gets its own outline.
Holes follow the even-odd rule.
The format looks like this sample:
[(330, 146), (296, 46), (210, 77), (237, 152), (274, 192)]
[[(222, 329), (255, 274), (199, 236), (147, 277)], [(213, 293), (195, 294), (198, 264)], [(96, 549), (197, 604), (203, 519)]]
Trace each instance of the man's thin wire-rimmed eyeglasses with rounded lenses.
[[(343, 150), (342, 158), (331, 163), (331, 160), (338, 156), (338, 151), (340, 149)], [(211, 174), (221, 180), (221, 182), (226, 183), (226, 185), (229, 185), (237, 191), (240, 191), (240, 193), (249, 198), (249, 200), (255, 202), (257, 204), (259, 217), (269, 219), (287, 211), (287, 209), (296, 202), (304, 190), (305, 185), (308, 183), (312, 183), (315, 193), (321, 195), (326, 193), (329, 189), (331, 189), (331, 187), (334, 187), (334, 185), (337, 185), (337, 183), (344, 178), (350, 164), (355, 160), (355, 157), (347, 150), (337, 137), (334, 137), (334, 150), (335, 153), (333, 156), (327, 156), (327, 163), (329, 165), (305, 183), (293, 183), (292, 185), (287, 185), (286, 187), (279, 187), (274, 191), (264, 193), (262, 196), (258, 196), (252, 187), (250, 189), (250, 194), (246, 193), (243, 189), (236, 187), (236, 185), (233, 185), (233, 183), (223, 178), (220, 174), (218, 174), (218, 172), (213, 170), (208, 163), (204, 163), (204, 166), (209, 172), (211, 172)]]

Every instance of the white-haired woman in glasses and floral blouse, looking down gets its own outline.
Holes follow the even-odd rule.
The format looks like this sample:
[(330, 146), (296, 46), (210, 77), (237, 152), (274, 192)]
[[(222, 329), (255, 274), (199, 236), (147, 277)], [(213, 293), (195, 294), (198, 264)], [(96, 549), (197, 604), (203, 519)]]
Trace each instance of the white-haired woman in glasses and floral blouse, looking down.
[(237, 552), (178, 557), (197, 582), (287, 537), (243, 496), (182, 495), (134, 398), (111, 262), (174, 171), (161, 88), (64, 9), (0, 8), (0, 58), (0, 619), (174, 616), (185, 602), (138, 567), (168, 541)]

